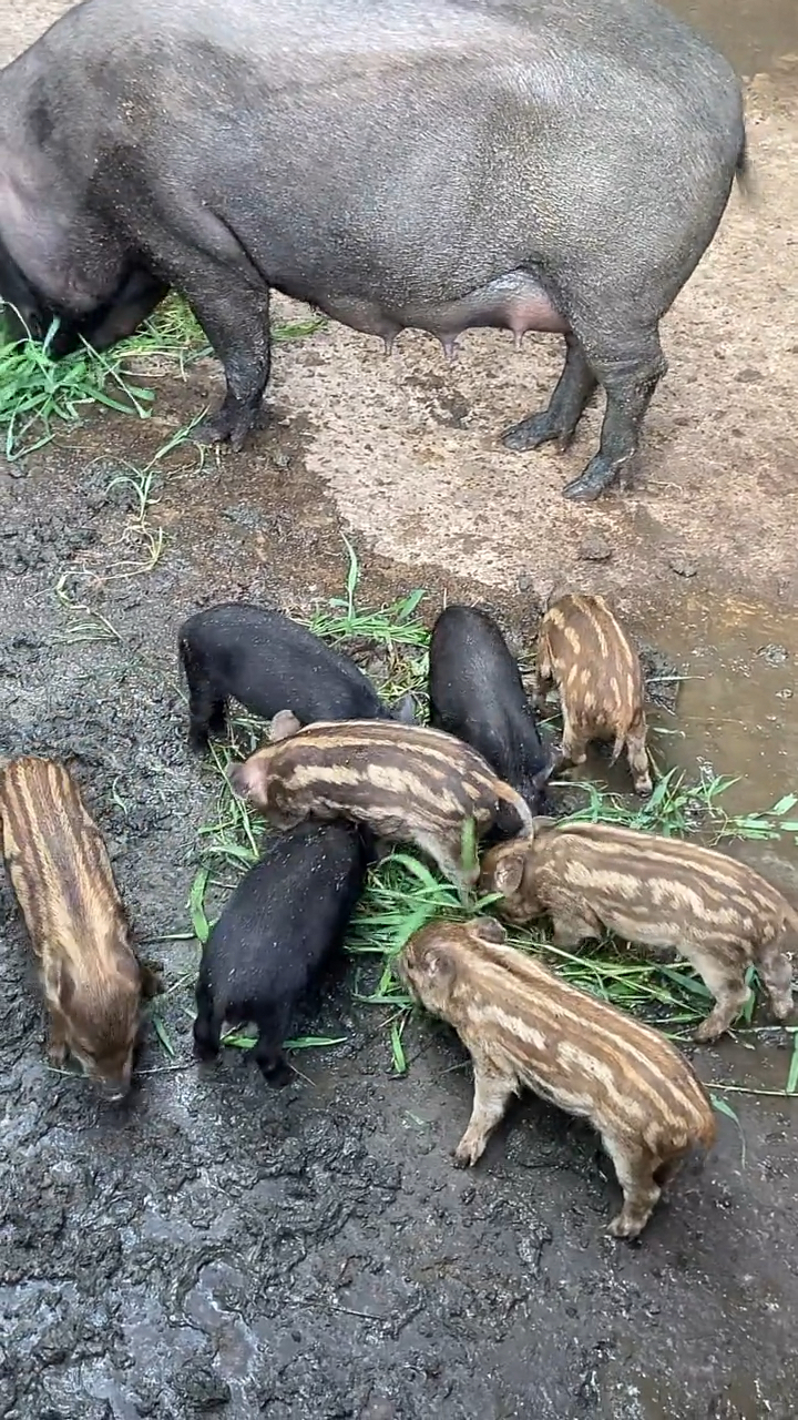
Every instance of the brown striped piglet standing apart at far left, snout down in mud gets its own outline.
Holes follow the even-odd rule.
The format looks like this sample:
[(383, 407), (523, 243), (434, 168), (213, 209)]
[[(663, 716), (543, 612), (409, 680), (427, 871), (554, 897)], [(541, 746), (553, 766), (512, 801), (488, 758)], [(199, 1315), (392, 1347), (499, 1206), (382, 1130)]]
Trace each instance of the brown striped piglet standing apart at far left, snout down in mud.
[(142, 995), (160, 981), (132, 950), (108, 851), (65, 765), (6, 761), (0, 843), (50, 1012), (50, 1061), (62, 1066), (71, 1054), (108, 1099), (121, 1099)]

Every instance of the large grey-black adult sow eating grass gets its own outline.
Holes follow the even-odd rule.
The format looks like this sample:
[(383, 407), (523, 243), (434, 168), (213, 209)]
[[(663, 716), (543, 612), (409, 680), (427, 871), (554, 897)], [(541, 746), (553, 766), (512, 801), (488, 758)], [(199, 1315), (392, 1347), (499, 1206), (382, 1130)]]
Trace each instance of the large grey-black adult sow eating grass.
[(595, 498), (666, 371), (659, 321), (745, 178), (740, 84), (652, 0), (84, 0), (0, 75), (0, 236), (45, 307), (183, 293), (240, 449), (270, 287), (389, 346), (558, 331), (567, 446), (596, 383)]

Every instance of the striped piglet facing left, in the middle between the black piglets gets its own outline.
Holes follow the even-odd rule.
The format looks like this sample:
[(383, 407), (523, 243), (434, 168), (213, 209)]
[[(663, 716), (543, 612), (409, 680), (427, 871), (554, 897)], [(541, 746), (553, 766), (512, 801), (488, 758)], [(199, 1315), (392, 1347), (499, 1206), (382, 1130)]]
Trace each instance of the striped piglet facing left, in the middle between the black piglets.
[(480, 873), (477, 862), (463, 861), (469, 824), (479, 839), (490, 828), (507, 838), (532, 822), (521, 795), (476, 750), (440, 730), (383, 720), (300, 728), (283, 711), (273, 738), (230, 771), (230, 782), (275, 828), (349, 818), (381, 838), (415, 843), (461, 893)]

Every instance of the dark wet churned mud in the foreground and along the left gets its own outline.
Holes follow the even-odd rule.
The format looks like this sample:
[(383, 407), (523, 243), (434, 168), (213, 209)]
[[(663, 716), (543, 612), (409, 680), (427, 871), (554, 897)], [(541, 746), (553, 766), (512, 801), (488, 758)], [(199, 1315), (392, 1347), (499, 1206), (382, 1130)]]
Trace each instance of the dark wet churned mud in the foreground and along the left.
[[(280, 497), (263, 463), (257, 487), (241, 460), (173, 471), (156, 490), (159, 565), (115, 581), (138, 557), (129, 500), (105, 491), (118, 469), (92, 463), (88, 432), (78, 444), (0, 484), (0, 753), (72, 764), (142, 950), (175, 984), (196, 946), (158, 939), (187, 932), (216, 795), (185, 743), (176, 628), (229, 595), (339, 594), (339, 531), (288, 430), (274, 435)], [(429, 568), (416, 582), (442, 585)], [(111, 639), (80, 639), (89, 613), (57, 585), (101, 612)], [(491, 589), (444, 585), (530, 645), (528, 602), (520, 615)], [(373, 605), (410, 586), (369, 562), (359, 595)], [(381, 1012), (352, 1001), (354, 968), (312, 1022), (348, 1044), (297, 1056), (302, 1076), (283, 1093), (234, 1052), (197, 1069), (190, 990), (176, 991), (162, 1004), (176, 1056), (149, 1027), (122, 1110), (47, 1069), (7, 886), (0, 971), (4, 1420), (794, 1416), (789, 1102), (740, 1110), (744, 1166), (721, 1118), (703, 1177), (686, 1174), (628, 1247), (603, 1234), (618, 1189), (596, 1139), (535, 1100), (473, 1174), (453, 1169), (470, 1108), (463, 1051), (412, 1022), (409, 1074), (392, 1076)], [(775, 1088), (788, 1055), (772, 1034), (755, 1054)], [(704, 1051), (700, 1066), (720, 1078), (728, 1055)]]

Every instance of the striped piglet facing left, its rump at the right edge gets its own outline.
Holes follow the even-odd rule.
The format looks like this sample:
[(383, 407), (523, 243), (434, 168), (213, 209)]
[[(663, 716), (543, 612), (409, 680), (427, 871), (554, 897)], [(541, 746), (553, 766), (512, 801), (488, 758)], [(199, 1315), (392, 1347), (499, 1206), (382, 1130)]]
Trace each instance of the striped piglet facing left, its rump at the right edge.
[(713, 848), (613, 824), (538, 818), (523, 845), (486, 853), (480, 888), (503, 895), (496, 910), (507, 922), (547, 913), (561, 947), (609, 930), (655, 951), (679, 951), (716, 1003), (697, 1041), (728, 1030), (748, 1000), (751, 964), (777, 1021), (792, 1011), (787, 947), (798, 941), (798, 913), (753, 868)]

